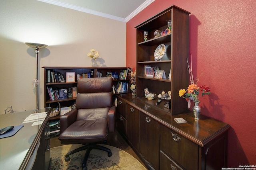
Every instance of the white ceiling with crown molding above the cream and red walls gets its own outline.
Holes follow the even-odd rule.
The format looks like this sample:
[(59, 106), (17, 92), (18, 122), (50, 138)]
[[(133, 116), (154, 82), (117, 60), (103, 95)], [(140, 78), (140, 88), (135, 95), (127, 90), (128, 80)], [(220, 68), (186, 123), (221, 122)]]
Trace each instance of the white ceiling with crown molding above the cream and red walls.
[(114, 20), (129, 21), (154, 0), (38, 0)]

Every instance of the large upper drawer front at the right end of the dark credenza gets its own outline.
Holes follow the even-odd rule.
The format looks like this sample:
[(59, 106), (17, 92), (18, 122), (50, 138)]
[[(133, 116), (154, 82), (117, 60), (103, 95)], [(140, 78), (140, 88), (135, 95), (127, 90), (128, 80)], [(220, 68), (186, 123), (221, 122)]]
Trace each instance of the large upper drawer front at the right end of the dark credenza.
[(164, 125), (160, 125), (160, 150), (185, 169), (198, 169), (199, 146)]

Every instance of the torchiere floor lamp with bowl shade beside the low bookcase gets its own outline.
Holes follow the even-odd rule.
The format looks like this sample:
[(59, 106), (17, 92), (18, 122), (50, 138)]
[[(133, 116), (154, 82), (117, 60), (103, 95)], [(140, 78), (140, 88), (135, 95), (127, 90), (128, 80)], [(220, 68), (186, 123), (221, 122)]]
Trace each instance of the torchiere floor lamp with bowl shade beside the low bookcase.
[(36, 109), (38, 108), (38, 52), (40, 49), (47, 47), (47, 45), (44, 44), (38, 44), (38, 43), (25, 43), (29, 47), (32, 47), (35, 49), (36, 52), (36, 78), (34, 79), (34, 87), (36, 87)]

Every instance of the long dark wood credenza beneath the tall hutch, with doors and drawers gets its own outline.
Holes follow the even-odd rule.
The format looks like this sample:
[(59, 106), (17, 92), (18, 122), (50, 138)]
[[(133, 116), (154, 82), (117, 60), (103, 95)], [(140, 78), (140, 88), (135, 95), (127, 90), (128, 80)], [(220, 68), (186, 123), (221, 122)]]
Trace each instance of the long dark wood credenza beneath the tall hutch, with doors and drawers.
[[(119, 107), (126, 106), (125, 137), (148, 169), (215, 170), (226, 167), (230, 125), (204, 115), (195, 120), (192, 112), (171, 115), (168, 109), (153, 105), (157, 100), (134, 98), (131, 94), (118, 96), (118, 101), (122, 101), (119, 111), (125, 108)], [(183, 117), (187, 123), (176, 123), (174, 118), (177, 117)]]

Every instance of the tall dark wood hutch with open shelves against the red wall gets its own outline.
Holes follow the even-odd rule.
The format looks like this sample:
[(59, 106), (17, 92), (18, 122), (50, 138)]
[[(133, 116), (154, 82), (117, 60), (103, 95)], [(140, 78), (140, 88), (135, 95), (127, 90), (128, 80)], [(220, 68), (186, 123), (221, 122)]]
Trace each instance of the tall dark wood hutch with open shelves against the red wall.
[[(189, 14), (177, 6), (170, 6), (152, 18), (136, 26), (136, 95), (144, 97), (144, 89), (150, 93), (161, 94), (162, 91), (172, 92), (170, 108), (172, 115), (187, 110), (187, 102), (178, 96), (181, 88), (188, 86), (187, 59), (189, 58)], [(154, 37), (156, 30), (168, 28), (167, 21), (172, 21), (171, 33)], [(148, 31), (144, 41), (144, 31)], [(161, 60), (155, 60), (154, 52), (158, 45), (166, 46), (166, 53)], [(144, 75), (145, 65), (158, 67), (164, 70), (166, 78), (150, 78)], [(170, 73), (171, 78), (168, 78)], [(159, 107), (160, 106), (156, 106)], [(160, 108), (166, 110), (166, 108)]]

